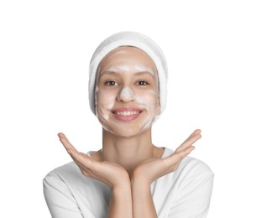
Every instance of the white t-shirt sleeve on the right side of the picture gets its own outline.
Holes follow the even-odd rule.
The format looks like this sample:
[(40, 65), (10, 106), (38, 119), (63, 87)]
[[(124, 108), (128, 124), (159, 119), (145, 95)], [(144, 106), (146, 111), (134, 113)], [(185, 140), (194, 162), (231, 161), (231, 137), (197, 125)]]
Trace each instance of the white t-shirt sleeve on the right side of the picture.
[(212, 196), (214, 174), (205, 163), (184, 170), (175, 205), (168, 218), (206, 218)]

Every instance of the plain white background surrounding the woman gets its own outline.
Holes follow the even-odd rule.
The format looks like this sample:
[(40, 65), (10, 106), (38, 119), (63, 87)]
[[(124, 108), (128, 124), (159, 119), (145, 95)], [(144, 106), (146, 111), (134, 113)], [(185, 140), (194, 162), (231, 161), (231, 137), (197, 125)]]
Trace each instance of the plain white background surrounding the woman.
[(1, 217), (50, 217), (42, 179), (71, 161), (58, 132), (101, 148), (88, 104), (88, 65), (110, 34), (133, 30), (163, 49), (167, 107), (154, 144), (175, 149), (196, 128), (191, 156), (215, 173), (209, 218), (256, 217), (254, 1), (1, 1)]

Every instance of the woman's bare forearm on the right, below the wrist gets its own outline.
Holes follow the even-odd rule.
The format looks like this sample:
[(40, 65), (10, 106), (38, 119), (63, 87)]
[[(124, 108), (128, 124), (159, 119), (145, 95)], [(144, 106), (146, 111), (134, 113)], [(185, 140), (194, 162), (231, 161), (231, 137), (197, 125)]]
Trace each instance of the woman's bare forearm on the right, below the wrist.
[(132, 182), (133, 218), (157, 218), (150, 184), (134, 180)]

